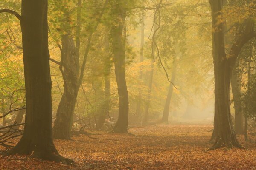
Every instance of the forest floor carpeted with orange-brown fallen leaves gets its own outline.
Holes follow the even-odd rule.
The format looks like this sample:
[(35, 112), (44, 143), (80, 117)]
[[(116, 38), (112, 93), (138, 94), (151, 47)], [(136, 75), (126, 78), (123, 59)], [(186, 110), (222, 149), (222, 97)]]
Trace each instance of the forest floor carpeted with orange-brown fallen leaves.
[(54, 141), (74, 166), (15, 155), (0, 157), (0, 170), (256, 170), (255, 136), (252, 142), (238, 136), (247, 150), (205, 151), (211, 146), (207, 141), (212, 128), (151, 125), (132, 127), (131, 134), (90, 132), (72, 141)]

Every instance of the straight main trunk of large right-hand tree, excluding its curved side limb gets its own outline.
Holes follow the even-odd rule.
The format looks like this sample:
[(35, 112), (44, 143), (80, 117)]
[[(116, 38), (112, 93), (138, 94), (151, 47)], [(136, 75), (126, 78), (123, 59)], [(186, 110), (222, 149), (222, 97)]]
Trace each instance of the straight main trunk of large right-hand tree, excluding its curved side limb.
[(230, 113), (230, 79), (233, 65), (225, 53), (224, 23), (219, 21), (223, 0), (210, 0), (212, 9), (212, 51), (214, 60), (215, 80), (215, 111), (212, 138), (214, 145), (219, 147), (241, 147), (233, 130)]

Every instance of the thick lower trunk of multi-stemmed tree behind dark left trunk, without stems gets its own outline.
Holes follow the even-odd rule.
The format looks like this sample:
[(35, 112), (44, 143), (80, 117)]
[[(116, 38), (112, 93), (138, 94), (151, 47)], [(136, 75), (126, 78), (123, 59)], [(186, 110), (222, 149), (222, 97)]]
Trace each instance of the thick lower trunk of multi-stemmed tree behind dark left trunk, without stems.
[[(62, 65), (64, 69), (62, 70)], [(64, 93), (58, 105), (53, 127), (53, 137), (56, 139), (71, 139), (70, 131), (73, 124), (73, 113), (78, 94), (79, 56), (73, 37), (62, 36), (62, 54), (60, 65), (64, 79)]]

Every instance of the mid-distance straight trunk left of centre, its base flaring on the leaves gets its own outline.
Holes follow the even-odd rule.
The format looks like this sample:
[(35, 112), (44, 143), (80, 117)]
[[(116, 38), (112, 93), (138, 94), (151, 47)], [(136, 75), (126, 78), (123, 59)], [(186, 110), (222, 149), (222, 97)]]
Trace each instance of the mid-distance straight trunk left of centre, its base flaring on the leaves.
[(122, 36), (123, 30), (125, 30), (126, 11), (124, 8), (120, 7), (118, 3), (114, 6), (116, 10), (115, 17), (118, 18), (119, 22), (113, 25), (111, 30), (111, 40), (119, 97), (119, 117), (113, 131), (117, 133), (127, 133), (129, 101), (125, 80), (125, 39), (123, 39)]

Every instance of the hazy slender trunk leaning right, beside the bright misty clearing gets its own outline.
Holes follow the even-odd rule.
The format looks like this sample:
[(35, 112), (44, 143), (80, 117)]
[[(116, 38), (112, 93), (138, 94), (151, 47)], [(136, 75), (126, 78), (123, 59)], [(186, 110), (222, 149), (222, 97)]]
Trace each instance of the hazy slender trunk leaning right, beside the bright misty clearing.
[[(174, 63), (174, 66), (172, 68), (172, 78), (171, 78), (171, 82), (174, 83), (175, 81), (175, 76), (176, 76), (176, 67), (177, 67), (177, 63)], [(166, 103), (163, 109), (163, 117), (161, 122), (163, 123), (168, 123), (168, 117), (169, 117), (169, 108), (170, 108), (170, 102), (172, 99), (172, 92), (173, 92), (173, 84), (170, 83), (169, 85), (169, 90), (168, 90), (168, 94), (166, 97)]]

